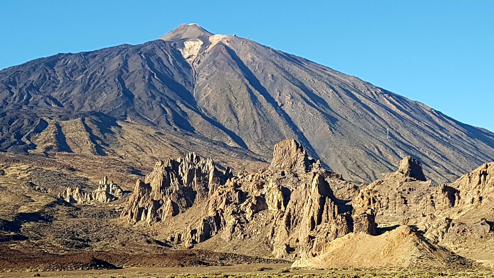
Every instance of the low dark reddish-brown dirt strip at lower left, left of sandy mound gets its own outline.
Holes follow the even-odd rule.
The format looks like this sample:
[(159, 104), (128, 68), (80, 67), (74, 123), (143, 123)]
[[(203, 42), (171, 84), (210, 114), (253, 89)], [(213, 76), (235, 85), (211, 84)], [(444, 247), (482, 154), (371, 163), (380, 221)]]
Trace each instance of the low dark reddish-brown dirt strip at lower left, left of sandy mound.
[(82, 251), (57, 255), (45, 252), (21, 252), (0, 245), (0, 270), (3, 271), (227, 266), (243, 263), (277, 264), (287, 263), (287, 261), (250, 257), (233, 253), (216, 253), (205, 250), (169, 250), (166, 252), (147, 254)]

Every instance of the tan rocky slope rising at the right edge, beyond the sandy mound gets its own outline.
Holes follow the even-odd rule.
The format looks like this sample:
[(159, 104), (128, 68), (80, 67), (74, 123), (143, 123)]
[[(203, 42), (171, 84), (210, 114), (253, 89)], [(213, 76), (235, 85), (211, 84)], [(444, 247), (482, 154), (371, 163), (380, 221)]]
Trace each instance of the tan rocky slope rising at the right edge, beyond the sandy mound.
[(484, 258), (494, 248), (494, 163), (486, 163), (436, 193), (436, 211), (418, 228), (458, 254)]

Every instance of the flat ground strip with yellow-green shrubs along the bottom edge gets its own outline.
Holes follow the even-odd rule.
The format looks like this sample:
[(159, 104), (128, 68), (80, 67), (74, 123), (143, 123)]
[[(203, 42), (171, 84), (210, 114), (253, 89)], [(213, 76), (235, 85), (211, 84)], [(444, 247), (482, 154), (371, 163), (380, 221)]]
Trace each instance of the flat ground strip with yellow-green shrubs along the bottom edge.
[(30, 277), (64, 278), (494, 278), (494, 270), (477, 268), (455, 269), (391, 269), (337, 268), (307, 269), (285, 265), (237, 265), (180, 268), (124, 268), (116, 270), (56, 271), (56, 272), (0, 272), (0, 278)]

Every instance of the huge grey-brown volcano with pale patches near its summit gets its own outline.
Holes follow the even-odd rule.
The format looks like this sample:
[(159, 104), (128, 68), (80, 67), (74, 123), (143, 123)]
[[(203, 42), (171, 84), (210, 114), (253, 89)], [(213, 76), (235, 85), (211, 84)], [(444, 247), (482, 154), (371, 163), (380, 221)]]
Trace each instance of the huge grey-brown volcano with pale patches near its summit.
[[(251, 161), (268, 160), (276, 142), (294, 138), (335, 172), (362, 182), (396, 170), (407, 155), (422, 161), (426, 176), (437, 182), (494, 160), (494, 134), (487, 130), (197, 24), (142, 45), (56, 54), (0, 71), (2, 150), (37, 149), (33, 138), (48, 119), (88, 115), (103, 119), (96, 121), (102, 135), (89, 136), (98, 145), (96, 155), (125, 149), (126, 142), (117, 147), (112, 139), (122, 124), (109, 124), (120, 121), (156, 130), (170, 141), (169, 149), (179, 138), (198, 143), (198, 152), (216, 145), (226, 156)], [(54, 134), (56, 142), (67, 137)]]

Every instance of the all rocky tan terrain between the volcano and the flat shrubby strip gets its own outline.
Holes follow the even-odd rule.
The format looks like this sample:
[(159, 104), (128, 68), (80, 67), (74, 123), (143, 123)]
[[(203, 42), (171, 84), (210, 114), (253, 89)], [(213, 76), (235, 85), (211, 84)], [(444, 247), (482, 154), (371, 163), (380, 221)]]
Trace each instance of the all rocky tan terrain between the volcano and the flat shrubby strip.
[[(189, 153), (158, 161), (133, 190), (70, 171), (1, 169), (5, 270), (242, 262), (473, 270), (494, 262), (494, 163), (438, 186), (406, 157), (382, 180), (356, 185), (286, 139), (258, 171), (235, 173)], [(41, 187), (41, 176), (59, 178)]]

